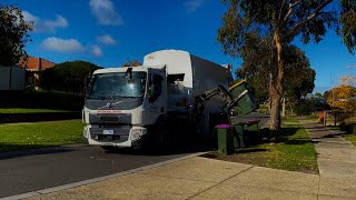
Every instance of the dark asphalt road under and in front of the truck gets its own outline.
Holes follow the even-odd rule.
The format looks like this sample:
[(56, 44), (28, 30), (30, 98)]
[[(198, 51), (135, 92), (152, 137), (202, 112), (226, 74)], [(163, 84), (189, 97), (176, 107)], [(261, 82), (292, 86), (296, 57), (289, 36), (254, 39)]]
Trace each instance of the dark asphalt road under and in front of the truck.
[[(249, 114), (246, 119), (264, 114)], [(49, 149), (0, 153), (0, 198), (52, 188), (112, 174), (205, 151), (201, 147), (181, 147), (150, 152), (106, 152), (100, 147), (73, 144)]]

